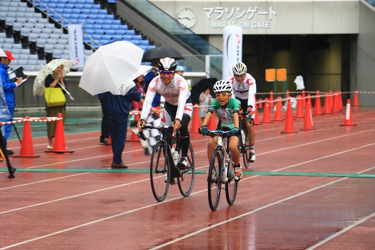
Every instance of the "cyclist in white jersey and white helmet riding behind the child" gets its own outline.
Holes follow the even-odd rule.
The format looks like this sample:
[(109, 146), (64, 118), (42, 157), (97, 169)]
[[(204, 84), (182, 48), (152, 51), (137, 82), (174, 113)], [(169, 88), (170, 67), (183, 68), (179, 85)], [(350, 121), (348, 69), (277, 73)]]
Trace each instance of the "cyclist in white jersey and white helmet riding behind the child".
[(247, 67), (242, 62), (237, 62), (233, 68), (233, 75), (229, 77), (229, 81), (233, 85), (233, 98), (240, 101), (242, 112), (250, 111), (250, 116), (246, 117), (245, 126), (248, 131), (250, 142), (250, 162), (255, 162), (255, 131), (254, 118), (255, 114), (255, 94), (256, 82), (254, 77), (247, 73)]

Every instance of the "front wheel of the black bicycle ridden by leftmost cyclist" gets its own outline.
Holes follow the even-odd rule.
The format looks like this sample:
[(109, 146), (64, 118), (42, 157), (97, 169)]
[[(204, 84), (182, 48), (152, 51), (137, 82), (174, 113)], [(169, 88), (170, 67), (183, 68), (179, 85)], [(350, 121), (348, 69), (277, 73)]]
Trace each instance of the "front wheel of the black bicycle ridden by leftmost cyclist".
[(166, 145), (164, 141), (159, 141), (153, 149), (150, 165), (151, 188), (158, 202), (164, 201), (170, 183), (169, 178), (164, 181), (166, 175), (170, 174), (167, 157)]

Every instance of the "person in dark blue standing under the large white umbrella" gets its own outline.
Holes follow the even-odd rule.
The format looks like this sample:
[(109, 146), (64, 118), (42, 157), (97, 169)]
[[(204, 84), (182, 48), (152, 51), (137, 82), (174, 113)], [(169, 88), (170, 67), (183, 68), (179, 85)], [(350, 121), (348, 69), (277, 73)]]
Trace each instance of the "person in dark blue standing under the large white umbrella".
[(114, 154), (111, 168), (127, 168), (122, 162), (125, 147), (127, 120), (132, 101), (143, 104), (143, 97), (138, 92), (133, 80), (128, 80), (117, 90), (105, 93), (104, 102), (107, 113), (108, 129)]

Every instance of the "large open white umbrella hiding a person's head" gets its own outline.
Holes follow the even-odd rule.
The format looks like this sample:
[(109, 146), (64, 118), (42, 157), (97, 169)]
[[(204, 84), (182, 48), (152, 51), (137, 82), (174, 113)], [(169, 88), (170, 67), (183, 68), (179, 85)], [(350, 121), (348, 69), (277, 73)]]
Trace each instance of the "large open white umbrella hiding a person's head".
[[(143, 49), (130, 42), (103, 45), (87, 58), (79, 87), (91, 95), (116, 90), (143, 74), (142, 56)], [(151, 67), (146, 68), (145, 71)]]

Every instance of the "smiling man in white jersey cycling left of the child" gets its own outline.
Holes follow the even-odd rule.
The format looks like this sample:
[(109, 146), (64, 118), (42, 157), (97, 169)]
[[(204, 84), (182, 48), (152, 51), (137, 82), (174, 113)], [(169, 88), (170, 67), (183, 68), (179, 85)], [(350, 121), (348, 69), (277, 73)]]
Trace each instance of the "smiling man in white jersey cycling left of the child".
[(180, 164), (187, 166), (186, 158), (190, 142), (188, 125), (193, 113), (193, 103), (188, 82), (175, 73), (176, 67), (177, 63), (173, 58), (160, 59), (158, 63), (160, 75), (156, 76), (148, 85), (137, 126), (139, 131), (143, 131), (142, 128), (151, 110), (151, 104), (156, 93), (159, 93), (165, 99), (164, 109), (161, 112), (161, 125), (173, 126), (173, 129), (180, 130)]

